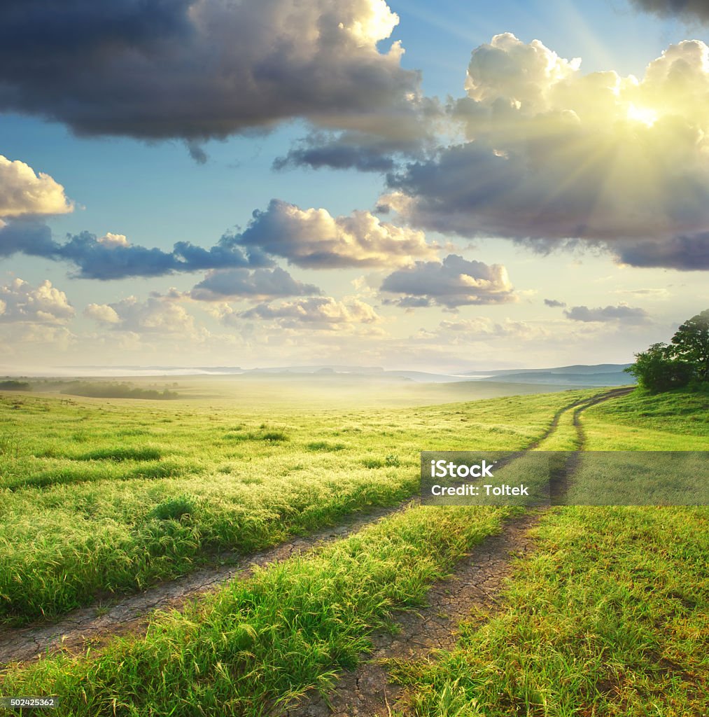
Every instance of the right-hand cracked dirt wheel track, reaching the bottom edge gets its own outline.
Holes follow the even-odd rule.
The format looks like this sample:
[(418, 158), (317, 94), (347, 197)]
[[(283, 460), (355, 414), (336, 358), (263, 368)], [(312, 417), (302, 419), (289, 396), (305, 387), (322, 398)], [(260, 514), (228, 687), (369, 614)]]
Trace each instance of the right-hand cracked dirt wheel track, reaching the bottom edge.
[[(558, 415), (574, 410), (573, 423), (579, 441), (579, 450), (571, 454), (563, 470), (564, 486), (575, 470), (574, 456), (584, 450), (586, 436), (581, 425), (581, 413), (587, 408), (610, 399), (624, 396), (633, 389), (614, 389), (577, 402)], [(558, 424), (558, 419), (556, 424)], [(556, 426), (555, 426), (556, 427)], [(548, 435), (551, 435), (550, 431)], [(541, 440), (537, 442), (537, 445)], [(336, 688), (326, 696), (305, 695), (297, 706), (285, 711), (272, 711), (279, 717), (386, 717), (396, 711), (406, 711), (406, 689), (389, 682), (386, 670), (388, 660), (431, 659), (432, 651), (453, 647), (457, 640), (457, 627), (471, 612), (489, 616), (499, 607), (505, 579), (512, 571), (514, 558), (522, 558), (534, 550), (530, 530), (540, 521), (548, 508), (536, 509), (520, 518), (507, 521), (503, 530), (485, 538), (458, 564), (455, 574), (438, 581), (427, 594), (427, 607), (399, 616), (396, 624), (401, 628), (396, 635), (376, 632), (371, 642), (371, 655), (361, 655), (356, 670), (344, 673)]]

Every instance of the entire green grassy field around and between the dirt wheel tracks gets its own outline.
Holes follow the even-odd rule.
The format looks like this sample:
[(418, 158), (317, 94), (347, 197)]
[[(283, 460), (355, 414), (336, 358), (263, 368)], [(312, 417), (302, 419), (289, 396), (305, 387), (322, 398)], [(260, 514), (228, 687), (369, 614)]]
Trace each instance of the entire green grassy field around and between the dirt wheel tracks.
[[(381, 407), (383, 391), (327, 406), (277, 387), (254, 389), (267, 400), (6, 394), (0, 635), (398, 505), (417, 492), (421, 450), (709, 449), (705, 395), (603, 391), (418, 407), (392, 394), (409, 402), (397, 408)], [(373, 631), (396, 631), (401, 611), (523, 513), (411, 504), (157, 612), (146, 632), (6, 665), (0, 694), (60, 695), (67, 716), (281, 714), (326, 693)], [(707, 508), (543, 513), (499, 610), (471, 616), (451, 650), (390, 661), (406, 685), (396, 709), (705, 713), (708, 519)]]

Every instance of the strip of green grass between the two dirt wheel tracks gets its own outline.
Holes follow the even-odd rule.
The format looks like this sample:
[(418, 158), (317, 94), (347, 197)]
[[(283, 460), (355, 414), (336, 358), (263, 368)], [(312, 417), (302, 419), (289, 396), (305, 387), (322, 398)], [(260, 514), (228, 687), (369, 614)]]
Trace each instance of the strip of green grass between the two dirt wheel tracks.
[(422, 604), (429, 585), (512, 510), (411, 508), (158, 614), (141, 639), (9, 670), (2, 690), (60, 695), (67, 717), (278, 713), (308, 688), (327, 690), (373, 630)]

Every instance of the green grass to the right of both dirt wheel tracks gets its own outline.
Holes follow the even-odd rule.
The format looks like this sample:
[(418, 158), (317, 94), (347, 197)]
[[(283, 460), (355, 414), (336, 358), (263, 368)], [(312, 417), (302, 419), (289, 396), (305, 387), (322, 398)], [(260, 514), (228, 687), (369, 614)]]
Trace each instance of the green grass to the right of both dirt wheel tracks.
[[(628, 429), (639, 432), (635, 450), (646, 435), (695, 450), (706, 409), (695, 394), (637, 391), (589, 408), (582, 424), (592, 450), (629, 450)], [(473, 617), (432, 662), (391, 663), (410, 712), (708, 714), (709, 508), (557, 508), (537, 536), (500, 612)]]

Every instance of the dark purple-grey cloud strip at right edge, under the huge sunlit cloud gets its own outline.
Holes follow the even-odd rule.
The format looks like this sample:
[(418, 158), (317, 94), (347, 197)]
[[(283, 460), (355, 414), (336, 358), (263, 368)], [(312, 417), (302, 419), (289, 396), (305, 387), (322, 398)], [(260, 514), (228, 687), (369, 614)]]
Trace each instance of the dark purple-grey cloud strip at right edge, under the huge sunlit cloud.
[(612, 251), (619, 262), (634, 267), (709, 270), (709, 232), (664, 241), (623, 242), (614, 244)]

